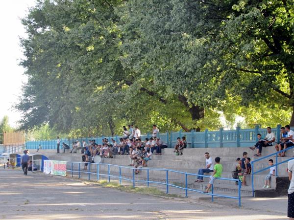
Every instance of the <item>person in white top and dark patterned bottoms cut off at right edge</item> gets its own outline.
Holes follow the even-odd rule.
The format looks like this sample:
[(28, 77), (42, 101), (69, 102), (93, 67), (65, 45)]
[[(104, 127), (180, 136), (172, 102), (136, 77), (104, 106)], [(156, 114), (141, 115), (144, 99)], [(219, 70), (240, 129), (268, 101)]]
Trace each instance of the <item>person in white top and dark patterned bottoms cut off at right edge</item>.
[(288, 189), (288, 218), (294, 220), (294, 176), (292, 176), (294, 171), (294, 160), (288, 162), (287, 171), (290, 180), (290, 186)]

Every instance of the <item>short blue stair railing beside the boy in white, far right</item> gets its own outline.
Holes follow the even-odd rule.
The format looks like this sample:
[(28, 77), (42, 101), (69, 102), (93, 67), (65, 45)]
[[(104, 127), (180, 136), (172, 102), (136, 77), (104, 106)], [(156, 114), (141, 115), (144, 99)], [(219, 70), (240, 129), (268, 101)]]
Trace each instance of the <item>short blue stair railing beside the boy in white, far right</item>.
[[(294, 148), (294, 146), (293, 146), (293, 147), (290, 147), (290, 148), (286, 148), (286, 149), (281, 150), (281, 151), (278, 151), (278, 152), (275, 152), (275, 153), (270, 154), (270, 155), (267, 155), (267, 156), (263, 156), (263, 157), (261, 157), (261, 158), (259, 158), (259, 159), (253, 160), (253, 161), (251, 162), (251, 168), (252, 168), (252, 171), (251, 171), (252, 197), (254, 197), (254, 175), (255, 175), (255, 174), (258, 174), (258, 173), (260, 173), (260, 172), (263, 172), (263, 171), (265, 171), (265, 170), (268, 170), (268, 169), (270, 169), (271, 167), (276, 167), (276, 169), (275, 169), (275, 176), (278, 176), (278, 174), (279, 174), (279, 173), (278, 173), (278, 166), (279, 166), (280, 164), (283, 164), (283, 163), (288, 162), (289, 160), (293, 160), (293, 159), (294, 159), (294, 157), (291, 157), (290, 159), (284, 160), (284, 161), (282, 161), (282, 162), (278, 162), (278, 154), (281, 154), (282, 152), (286, 152), (286, 151), (291, 150), (291, 149), (293, 149), (293, 148)], [(261, 160), (263, 160), (263, 159), (269, 158), (269, 157), (271, 157), (271, 156), (275, 156), (275, 164), (274, 164), (274, 165), (272, 165), (272, 166), (268, 166), (268, 167), (266, 167), (266, 168), (263, 168), (263, 169), (260, 169), (260, 170), (257, 170), (257, 171), (254, 171), (254, 163), (256, 163), (256, 162), (258, 162), (258, 161), (261, 161)], [(280, 157), (280, 158), (283, 158), (283, 157)]]

